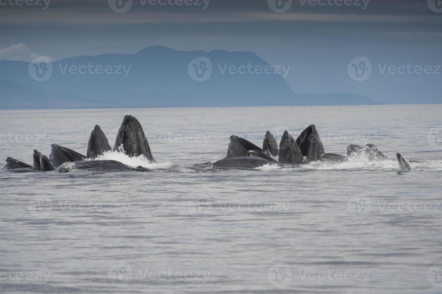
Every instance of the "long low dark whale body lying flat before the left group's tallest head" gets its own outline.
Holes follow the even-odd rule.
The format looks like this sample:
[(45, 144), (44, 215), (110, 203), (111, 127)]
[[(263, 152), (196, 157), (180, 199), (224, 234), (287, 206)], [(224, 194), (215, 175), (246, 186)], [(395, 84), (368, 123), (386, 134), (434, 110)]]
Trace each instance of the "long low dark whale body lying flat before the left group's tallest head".
[(71, 172), (72, 170), (84, 170), (91, 172), (154, 172), (150, 168), (139, 166), (133, 168), (117, 160), (89, 160), (74, 162), (73, 166), (58, 168), (59, 172)]

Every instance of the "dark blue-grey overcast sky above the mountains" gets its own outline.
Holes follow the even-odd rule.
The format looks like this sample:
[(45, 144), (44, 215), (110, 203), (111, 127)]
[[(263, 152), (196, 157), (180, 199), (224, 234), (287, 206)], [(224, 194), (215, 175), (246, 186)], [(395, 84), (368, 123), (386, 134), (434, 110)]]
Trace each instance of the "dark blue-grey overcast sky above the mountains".
[[(154, 45), (251, 51), (291, 65), (286, 80), (297, 93), (351, 92), (383, 103), (413, 103), (420, 95), (442, 103), (442, 74), (380, 72), (385, 63), (442, 65), (441, 0), (285, 1), (0, 0), (0, 59), (136, 53)], [(347, 74), (359, 56), (373, 65), (362, 82)]]

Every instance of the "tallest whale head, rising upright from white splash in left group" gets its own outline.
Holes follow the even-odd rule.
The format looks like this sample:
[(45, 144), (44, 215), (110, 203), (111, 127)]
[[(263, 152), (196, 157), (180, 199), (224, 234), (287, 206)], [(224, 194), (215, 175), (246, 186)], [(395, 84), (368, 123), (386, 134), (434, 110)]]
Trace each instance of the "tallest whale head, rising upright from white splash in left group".
[(123, 151), (126, 155), (130, 157), (144, 155), (149, 162), (156, 163), (143, 128), (137, 118), (134, 118), (132, 115), (126, 115), (123, 118), (117, 138), (115, 139), (114, 151), (118, 150), (120, 145), (123, 146)]

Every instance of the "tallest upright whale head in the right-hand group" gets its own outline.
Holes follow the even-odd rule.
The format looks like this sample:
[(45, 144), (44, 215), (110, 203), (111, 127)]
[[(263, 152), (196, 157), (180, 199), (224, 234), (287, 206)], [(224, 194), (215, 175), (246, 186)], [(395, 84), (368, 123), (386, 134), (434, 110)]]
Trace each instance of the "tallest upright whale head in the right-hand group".
[(296, 144), (301, 150), (302, 156), (307, 158), (307, 162), (316, 161), (318, 157), (325, 153), (324, 145), (315, 125), (308, 126), (297, 137)]

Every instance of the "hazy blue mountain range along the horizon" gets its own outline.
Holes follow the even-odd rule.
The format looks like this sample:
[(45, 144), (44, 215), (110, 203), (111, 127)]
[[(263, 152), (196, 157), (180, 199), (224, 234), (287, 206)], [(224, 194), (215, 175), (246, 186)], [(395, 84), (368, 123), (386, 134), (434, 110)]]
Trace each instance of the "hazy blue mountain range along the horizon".
[(251, 52), (183, 52), (163, 46), (43, 65), (3, 60), (0, 108), (380, 104), (348, 93), (296, 95), (283, 78), (287, 70)]

